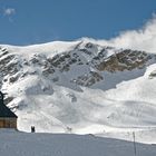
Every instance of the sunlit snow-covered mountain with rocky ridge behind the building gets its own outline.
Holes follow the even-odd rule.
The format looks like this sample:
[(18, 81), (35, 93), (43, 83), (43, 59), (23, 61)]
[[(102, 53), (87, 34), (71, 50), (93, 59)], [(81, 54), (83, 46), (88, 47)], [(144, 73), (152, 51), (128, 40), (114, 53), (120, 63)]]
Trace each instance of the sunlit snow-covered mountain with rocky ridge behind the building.
[(0, 71), (20, 130), (114, 136), (156, 127), (155, 53), (89, 39), (1, 45)]

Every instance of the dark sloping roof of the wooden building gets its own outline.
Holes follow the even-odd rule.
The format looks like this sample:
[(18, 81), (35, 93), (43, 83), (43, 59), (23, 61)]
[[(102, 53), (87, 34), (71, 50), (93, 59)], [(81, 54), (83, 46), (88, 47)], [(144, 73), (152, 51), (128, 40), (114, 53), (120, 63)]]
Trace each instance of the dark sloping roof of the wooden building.
[(12, 113), (3, 103), (3, 95), (0, 91), (0, 117), (11, 117), (11, 118), (18, 118), (14, 113)]

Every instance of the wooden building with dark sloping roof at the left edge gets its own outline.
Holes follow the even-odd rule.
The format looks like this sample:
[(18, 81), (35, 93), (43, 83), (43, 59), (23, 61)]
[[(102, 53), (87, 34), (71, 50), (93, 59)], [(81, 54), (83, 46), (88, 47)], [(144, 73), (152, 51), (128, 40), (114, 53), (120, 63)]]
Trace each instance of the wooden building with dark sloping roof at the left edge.
[(17, 129), (17, 115), (13, 114), (3, 103), (3, 94), (0, 91), (0, 128)]

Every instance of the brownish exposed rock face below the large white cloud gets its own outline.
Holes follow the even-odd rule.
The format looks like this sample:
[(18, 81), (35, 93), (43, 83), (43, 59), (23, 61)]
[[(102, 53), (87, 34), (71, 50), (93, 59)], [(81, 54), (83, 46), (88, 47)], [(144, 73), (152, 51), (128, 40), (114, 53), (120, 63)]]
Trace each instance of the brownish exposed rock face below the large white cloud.
[(135, 68), (143, 68), (150, 59), (152, 56), (148, 56), (144, 51), (134, 51), (128, 49), (104, 59), (103, 62), (97, 65), (97, 69), (110, 72), (133, 70)]

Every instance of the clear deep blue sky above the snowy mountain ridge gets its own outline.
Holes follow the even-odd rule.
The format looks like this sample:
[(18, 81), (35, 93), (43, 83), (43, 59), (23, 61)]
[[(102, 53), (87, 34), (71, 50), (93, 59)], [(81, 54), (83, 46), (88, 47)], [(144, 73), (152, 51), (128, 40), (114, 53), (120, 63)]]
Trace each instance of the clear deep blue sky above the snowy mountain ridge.
[(0, 43), (110, 39), (155, 12), (156, 0), (0, 0)]

